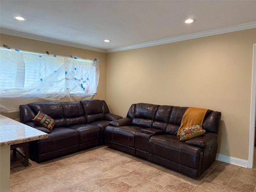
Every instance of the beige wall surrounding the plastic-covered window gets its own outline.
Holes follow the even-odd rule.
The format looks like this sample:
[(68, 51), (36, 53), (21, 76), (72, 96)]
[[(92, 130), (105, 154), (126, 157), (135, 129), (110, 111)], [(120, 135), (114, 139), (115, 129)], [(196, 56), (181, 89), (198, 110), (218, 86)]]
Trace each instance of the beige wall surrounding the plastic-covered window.
[[(10, 48), (28, 50), (34, 52), (46, 53), (48, 51), (50, 54), (56, 54), (61, 56), (77, 56), (84, 59), (94, 60), (97, 58), (99, 60), (100, 68), (100, 80), (97, 90), (97, 95), (94, 99), (106, 100), (106, 53), (90, 51), (80, 48), (74, 48), (70, 46), (63, 46), (59, 44), (53, 44), (48, 42), (42, 42), (37, 40), (31, 40), (27, 38), (20, 38), (16, 36), (10, 36), (6, 34), (0, 34), (0, 44), (8, 45)], [(3, 70), (3, 69), (1, 69)], [(38, 99), (22, 99), (19, 101), (20, 104), (27, 104), (30, 102), (41, 101)], [(68, 98), (62, 99), (61, 101), (69, 101)], [(12, 99), (2, 99), (0, 102), (12, 102)], [(19, 113), (1, 113), (5, 116), (19, 120)]]

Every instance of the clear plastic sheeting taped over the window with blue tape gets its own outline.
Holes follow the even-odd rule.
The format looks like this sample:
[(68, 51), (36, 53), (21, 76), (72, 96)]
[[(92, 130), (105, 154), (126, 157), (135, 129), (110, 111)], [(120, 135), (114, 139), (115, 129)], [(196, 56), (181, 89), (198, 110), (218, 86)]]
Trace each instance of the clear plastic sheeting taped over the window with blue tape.
[[(92, 98), (99, 80), (98, 60), (0, 48), (0, 98)], [(14, 112), (1, 102), (1, 112)]]

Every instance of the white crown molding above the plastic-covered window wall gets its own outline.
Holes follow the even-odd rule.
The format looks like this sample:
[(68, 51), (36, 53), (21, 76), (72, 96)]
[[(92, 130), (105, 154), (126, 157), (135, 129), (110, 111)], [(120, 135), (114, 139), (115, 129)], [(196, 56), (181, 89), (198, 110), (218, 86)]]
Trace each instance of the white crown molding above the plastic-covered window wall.
[(81, 48), (81, 49), (86, 49), (86, 50), (106, 53), (105, 49), (94, 48), (94, 47), (90, 47), (90, 46), (85, 46), (85, 45), (80, 45), (80, 44), (75, 44), (75, 43), (55, 40), (55, 39), (51, 39), (51, 38), (36, 36), (36, 35), (32, 35), (32, 34), (26, 34), (26, 33), (12, 31), (12, 30), (8, 30), (8, 29), (2, 29), (1, 28), (0, 29), (0, 33), (6, 34), (6, 35), (22, 37), (22, 38), (38, 40), (38, 41), (43, 41), (43, 42), (48, 42), (48, 43), (54, 43), (54, 44), (59, 44), (59, 45), (65, 45), (65, 46), (70, 46), (70, 47), (75, 47), (75, 48)]

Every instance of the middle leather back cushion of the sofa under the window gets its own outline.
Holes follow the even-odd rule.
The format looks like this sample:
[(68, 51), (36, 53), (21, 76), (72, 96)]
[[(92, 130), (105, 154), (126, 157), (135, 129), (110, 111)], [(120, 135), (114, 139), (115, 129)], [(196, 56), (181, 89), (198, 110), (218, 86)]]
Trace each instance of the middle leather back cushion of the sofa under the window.
[(67, 126), (86, 124), (84, 108), (80, 102), (62, 102)]

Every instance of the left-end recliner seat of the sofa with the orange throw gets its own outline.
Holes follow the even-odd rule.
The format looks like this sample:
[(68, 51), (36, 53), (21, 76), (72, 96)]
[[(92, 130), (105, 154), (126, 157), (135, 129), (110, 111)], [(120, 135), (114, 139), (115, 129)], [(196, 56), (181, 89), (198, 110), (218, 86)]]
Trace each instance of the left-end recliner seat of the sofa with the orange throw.
[[(135, 134), (142, 128), (152, 127), (158, 106), (132, 104), (126, 118), (111, 122), (112, 125), (106, 127), (106, 145), (135, 155)], [(121, 127), (118, 127), (119, 123)]]

